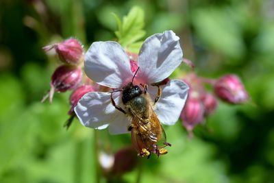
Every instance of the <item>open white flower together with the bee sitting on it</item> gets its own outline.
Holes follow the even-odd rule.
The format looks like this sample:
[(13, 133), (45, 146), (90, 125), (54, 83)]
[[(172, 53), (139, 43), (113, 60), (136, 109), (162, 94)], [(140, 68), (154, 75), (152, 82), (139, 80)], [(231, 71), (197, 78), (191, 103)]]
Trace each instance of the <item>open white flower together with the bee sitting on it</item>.
[(91, 92), (79, 100), (75, 113), (86, 127), (104, 129), (111, 134), (131, 132), (140, 156), (166, 154), (162, 124), (179, 119), (188, 94), (181, 80), (165, 80), (182, 62), (179, 37), (172, 31), (154, 34), (143, 43), (132, 72), (127, 53), (118, 42), (93, 42), (88, 49), (86, 75), (113, 92)]

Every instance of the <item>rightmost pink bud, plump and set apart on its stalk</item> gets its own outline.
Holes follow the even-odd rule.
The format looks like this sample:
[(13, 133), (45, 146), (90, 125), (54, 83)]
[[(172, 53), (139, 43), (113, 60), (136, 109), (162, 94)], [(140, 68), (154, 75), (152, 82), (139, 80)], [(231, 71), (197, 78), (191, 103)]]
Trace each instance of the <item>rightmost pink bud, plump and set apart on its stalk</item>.
[(217, 97), (228, 103), (244, 103), (249, 99), (245, 86), (236, 75), (224, 75), (214, 84)]

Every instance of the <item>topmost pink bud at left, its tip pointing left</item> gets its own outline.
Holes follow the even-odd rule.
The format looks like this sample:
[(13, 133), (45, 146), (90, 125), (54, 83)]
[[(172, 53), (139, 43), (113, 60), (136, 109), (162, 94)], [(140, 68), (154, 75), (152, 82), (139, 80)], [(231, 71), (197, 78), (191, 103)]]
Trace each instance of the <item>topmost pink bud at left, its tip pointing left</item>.
[(43, 47), (45, 51), (53, 48), (60, 60), (66, 64), (77, 65), (84, 60), (84, 50), (77, 39), (69, 38), (63, 42)]

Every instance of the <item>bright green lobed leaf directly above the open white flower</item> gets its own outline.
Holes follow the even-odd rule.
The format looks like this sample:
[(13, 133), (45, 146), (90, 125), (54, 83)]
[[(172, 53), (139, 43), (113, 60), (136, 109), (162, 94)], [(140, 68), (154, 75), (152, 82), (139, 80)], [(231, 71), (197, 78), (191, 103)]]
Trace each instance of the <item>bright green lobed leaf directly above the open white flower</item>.
[[(114, 18), (118, 26), (115, 34), (120, 44), (126, 49), (145, 36), (145, 31), (143, 30), (145, 26), (145, 16), (141, 8), (137, 6), (133, 7), (129, 11), (129, 14), (123, 17), (123, 21), (121, 21), (116, 14), (114, 14)], [(136, 45), (133, 47), (135, 47), (134, 50), (136, 51)], [(138, 45), (138, 48), (140, 49), (140, 45)]]

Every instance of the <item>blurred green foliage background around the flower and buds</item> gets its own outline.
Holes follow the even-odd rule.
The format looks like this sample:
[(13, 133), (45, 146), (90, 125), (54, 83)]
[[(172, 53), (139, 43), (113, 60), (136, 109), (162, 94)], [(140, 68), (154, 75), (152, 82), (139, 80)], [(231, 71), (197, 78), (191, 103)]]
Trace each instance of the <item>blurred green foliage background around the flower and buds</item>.
[[(145, 37), (172, 29), (199, 75), (236, 73), (252, 101), (220, 102), (193, 139), (181, 122), (164, 127), (173, 145), (169, 154), (144, 158), (109, 181), (274, 182), (273, 0), (1, 0), (0, 182), (98, 180), (94, 130), (76, 119), (69, 130), (62, 127), (69, 93), (55, 94), (51, 105), (40, 103), (60, 64), (41, 48), (71, 36), (84, 49), (95, 40), (114, 40), (112, 12), (122, 17), (134, 5), (145, 11)], [(130, 144), (129, 135), (97, 136), (109, 153)]]

